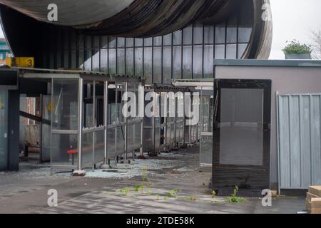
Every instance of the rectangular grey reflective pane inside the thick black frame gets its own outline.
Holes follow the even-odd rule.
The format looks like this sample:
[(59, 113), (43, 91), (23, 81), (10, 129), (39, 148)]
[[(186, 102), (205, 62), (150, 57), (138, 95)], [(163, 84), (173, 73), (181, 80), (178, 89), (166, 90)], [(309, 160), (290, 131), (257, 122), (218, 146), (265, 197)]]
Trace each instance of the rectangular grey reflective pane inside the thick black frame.
[(220, 164), (263, 165), (263, 92), (222, 88)]

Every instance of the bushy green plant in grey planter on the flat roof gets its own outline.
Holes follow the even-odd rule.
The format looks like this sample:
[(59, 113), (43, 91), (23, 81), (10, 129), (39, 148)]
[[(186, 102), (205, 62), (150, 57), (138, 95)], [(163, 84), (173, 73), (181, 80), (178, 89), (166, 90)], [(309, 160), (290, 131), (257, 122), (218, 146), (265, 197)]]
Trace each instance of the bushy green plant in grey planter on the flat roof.
[(285, 59), (311, 59), (311, 47), (297, 40), (288, 43), (282, 51), (285, 53)]

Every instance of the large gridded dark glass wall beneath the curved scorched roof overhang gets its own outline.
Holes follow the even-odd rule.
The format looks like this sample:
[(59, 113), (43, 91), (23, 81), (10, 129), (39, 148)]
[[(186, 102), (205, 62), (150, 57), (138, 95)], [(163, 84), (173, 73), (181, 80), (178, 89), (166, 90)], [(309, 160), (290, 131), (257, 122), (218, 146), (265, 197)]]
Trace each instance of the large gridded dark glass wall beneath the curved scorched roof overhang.
[(242, 58), (250, 41), (253, 14), (238, 14), (215, 25), (193, 24), (165, 36), (86, 36), (69, 28), (44, 28), (51, 41), (41, 50), (43, 68), (82, 68), (142, 76), (146, 83), (213, 78), (213, 58)]

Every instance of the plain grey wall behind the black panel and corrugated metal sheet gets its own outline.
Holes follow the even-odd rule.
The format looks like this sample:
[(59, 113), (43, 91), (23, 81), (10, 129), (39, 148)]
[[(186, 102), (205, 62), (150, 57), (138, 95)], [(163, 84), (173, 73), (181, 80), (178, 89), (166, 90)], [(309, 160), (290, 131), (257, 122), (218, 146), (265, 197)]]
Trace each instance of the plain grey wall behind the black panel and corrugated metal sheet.
[(270, 178), (272, 187), (277, 187), (277, 120), (275, 93), (321, 93), (321, 65), (320, 67), (216, 65), (215, 78), (272, 80)]

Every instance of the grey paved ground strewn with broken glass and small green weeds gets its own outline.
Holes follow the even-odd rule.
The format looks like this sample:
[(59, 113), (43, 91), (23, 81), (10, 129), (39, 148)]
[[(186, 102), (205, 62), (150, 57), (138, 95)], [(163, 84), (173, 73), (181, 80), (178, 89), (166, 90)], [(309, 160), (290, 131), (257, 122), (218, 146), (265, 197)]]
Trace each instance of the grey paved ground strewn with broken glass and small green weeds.
[[(208, 190), (210, 173), (198, 172), (198, 148), (163, 154), (113, 170), (49, 175), (49, 167), (22, 165), (0, 172), (0, 213), (296, 213), (300, 197), (276, 197), (272, 207), (258, 198), (227, 203)], [(47, 206), (49, 189), (58, 191), (58, 207)]]

